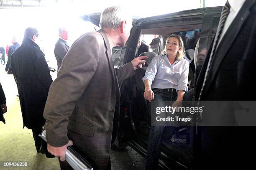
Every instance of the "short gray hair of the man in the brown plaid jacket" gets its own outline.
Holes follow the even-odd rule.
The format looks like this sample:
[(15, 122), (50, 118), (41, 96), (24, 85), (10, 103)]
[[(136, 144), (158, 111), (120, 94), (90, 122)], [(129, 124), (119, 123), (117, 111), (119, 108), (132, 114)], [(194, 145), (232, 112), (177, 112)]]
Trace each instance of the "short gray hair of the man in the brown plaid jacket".
[(115, 29), (121, 26), (122, 21), (132, 22), (132, 15), (120, 6), (106, 8), (100, 16), (100, 27)]

